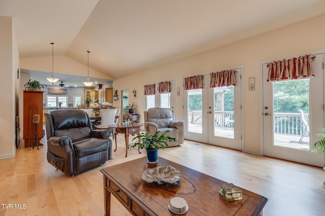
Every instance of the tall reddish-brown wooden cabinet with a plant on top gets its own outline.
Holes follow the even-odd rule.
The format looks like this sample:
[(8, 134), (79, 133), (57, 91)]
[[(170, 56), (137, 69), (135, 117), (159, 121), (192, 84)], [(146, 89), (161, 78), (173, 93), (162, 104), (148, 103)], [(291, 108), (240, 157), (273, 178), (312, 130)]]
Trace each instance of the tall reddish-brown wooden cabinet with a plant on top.
[(34, 115), (40, 115), (37, 125), (37, 143), (44, 137), (43, 132), (43, 93), (39, 91), (24, 91), (24, 141), (25, 148), (35, 143), (35, 124), (32, 123)]

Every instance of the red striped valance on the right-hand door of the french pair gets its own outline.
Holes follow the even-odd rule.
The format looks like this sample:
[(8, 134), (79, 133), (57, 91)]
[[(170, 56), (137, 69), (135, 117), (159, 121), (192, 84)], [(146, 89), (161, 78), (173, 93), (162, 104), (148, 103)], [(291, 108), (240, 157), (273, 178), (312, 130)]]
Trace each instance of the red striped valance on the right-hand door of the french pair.
[(236, 70), (222, 70), (210, 73), (210, 88), (236, 85)]

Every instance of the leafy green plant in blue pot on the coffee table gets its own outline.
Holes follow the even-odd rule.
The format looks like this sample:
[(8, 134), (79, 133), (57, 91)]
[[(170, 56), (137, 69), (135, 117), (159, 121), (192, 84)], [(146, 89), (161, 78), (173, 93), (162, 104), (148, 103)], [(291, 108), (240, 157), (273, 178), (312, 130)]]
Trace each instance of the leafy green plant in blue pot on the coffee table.
[(156, 132), (154, 135), (151, 135), (149, 132), (141, 133), (132, 140), (137, 140), (138, 142), (130, 144), (129, 147), (134, 148), (139, 146), (139, 149), (146, 149), (148, 161), (156, 162), (158, 158), (158, 149), (165, 149), (168, 146), (167, 142), (176, 140), (176, 138), (166, 136), (168, 132), (169, 131), (165, 131), (164, 133)]

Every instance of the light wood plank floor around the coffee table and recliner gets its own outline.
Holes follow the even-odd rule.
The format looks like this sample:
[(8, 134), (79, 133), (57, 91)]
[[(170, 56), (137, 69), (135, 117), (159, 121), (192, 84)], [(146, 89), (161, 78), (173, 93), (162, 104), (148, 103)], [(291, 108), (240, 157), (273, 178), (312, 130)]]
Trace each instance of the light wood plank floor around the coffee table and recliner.
[[(100, 169), (146, 156), (133, 149), (125, 158), (123, 135), (118, 144), (113, 160), (69, 177), (47, 162), (46, 145), (28, 151), (20, 143), (14, 158), (0, 160), (0, 215), (104, 215)], [(192, 141), (159, 150), (159, 156), (267, 197), (264, 215), (325, 215), (322, 168)], [(112, 196), (111, 215), (131, 214)]]

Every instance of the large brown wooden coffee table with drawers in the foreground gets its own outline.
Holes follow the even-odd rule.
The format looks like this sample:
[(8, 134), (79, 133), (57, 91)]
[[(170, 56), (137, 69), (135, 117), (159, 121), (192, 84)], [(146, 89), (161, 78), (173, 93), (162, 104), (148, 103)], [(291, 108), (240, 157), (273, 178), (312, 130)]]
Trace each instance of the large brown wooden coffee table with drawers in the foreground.
[(175, 185), (147, 183), (141, 180), (147, 169), (147, 157), (101, 169), (104, 174), (105, 215), (110, 215), (111, 194), (133, 215), (177, 215), (168, 208), (173, 197), (185, 198), (189, 209), (183, 215), (260, 215), (268, 199), (243, 191), (243, 199), (226, 201), (219, 194), (225, 182), (167, 159), (158, 157), (159, 165), (171, 165), (181, 172)]

